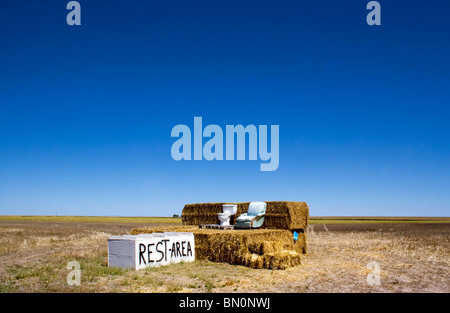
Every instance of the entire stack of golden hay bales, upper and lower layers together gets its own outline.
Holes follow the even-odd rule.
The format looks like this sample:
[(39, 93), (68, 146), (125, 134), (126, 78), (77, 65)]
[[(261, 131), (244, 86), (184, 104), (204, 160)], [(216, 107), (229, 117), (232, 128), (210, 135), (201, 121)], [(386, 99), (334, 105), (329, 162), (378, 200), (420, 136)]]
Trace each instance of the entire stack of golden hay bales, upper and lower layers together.
[[(217, 224), (217, 214), (225, 203), (187, 204), (181, 215), (184, 226), (166, 228), (141, 227), (132, 234), (151, 232), (192, 232), (195, 238), (196, 259), (252, 268), (285, 269), (300, 264), (306, 253), (305, 229), (309, 221), (309, 208), (305, 202), (266, 202), (264, 223), (258, 229), (204, 229), (201, 224)], [(237, 204), (237, 214), (247, 212), (250, 202)], [(298, 233), (297, 241), (293, 232)]]

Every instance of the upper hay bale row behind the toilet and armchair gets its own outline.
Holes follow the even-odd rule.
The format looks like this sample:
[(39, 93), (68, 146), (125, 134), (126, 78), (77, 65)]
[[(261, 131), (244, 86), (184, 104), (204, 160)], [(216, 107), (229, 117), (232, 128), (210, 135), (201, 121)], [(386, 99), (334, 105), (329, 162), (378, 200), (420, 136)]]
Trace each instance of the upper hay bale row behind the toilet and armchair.
[[(306, 202), (266, 201), (266, 215), (261, 228), (269, 229), (306, 229), (309, 222), (309, 207)], [(217, 224), (217, 214), (222, 212), (222, 203), (186, 204), (181, 214), (183, 225)], [(250, 202), (237, 204), (237, 214), (231, 217), (235, 224), (236, 217), (247, 212)]]

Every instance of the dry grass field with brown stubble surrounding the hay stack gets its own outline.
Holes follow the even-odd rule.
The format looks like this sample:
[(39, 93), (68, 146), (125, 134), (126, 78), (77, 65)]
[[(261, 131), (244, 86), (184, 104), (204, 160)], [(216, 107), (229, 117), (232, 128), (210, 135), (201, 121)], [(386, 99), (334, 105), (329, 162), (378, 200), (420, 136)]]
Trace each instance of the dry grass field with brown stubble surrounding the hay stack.
[[(107, 238), (179, 219), (0, 217), (0, 292), (450, 292), (450, 220), (316, 218), (302, 264), (286, 270), (195, 261), (107, 266)], [(150, 223), (150, 224), (149, 224)], [(69, 286), (78, 261), (80, 286)], [(379, 266), (379, 284), (369, 284)], [(372, 262), (372, 263), (371, 263)], [(372, 282), (369, 280), (369, 282)]]

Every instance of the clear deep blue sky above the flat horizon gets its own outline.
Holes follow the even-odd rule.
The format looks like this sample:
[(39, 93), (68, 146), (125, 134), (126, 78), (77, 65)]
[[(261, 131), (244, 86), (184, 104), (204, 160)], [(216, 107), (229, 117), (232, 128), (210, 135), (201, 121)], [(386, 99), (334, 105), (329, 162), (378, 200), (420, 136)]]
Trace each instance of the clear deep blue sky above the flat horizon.
[[(448, 1), (0, 4), (0, 214), (306, 201), (449, 216)], [(174, 161), (171, 129), (279, 125), (280, 161)]]

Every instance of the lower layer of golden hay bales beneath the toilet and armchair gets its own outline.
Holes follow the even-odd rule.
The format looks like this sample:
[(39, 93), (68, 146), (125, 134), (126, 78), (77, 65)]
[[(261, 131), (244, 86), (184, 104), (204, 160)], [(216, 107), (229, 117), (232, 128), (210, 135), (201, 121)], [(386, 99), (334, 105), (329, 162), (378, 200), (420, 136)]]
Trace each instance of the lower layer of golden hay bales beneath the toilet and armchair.
[(192, 232), (195, 256), (199, 260), (226, 262), (252, 268), (285, 269), (301, 262), (306, 252), (306, 237), (299, 233), (294, 243), (292, 232), (285, 229), (217, 230), (194, 226), (140, 227), (132, 234), (179, 231)]

